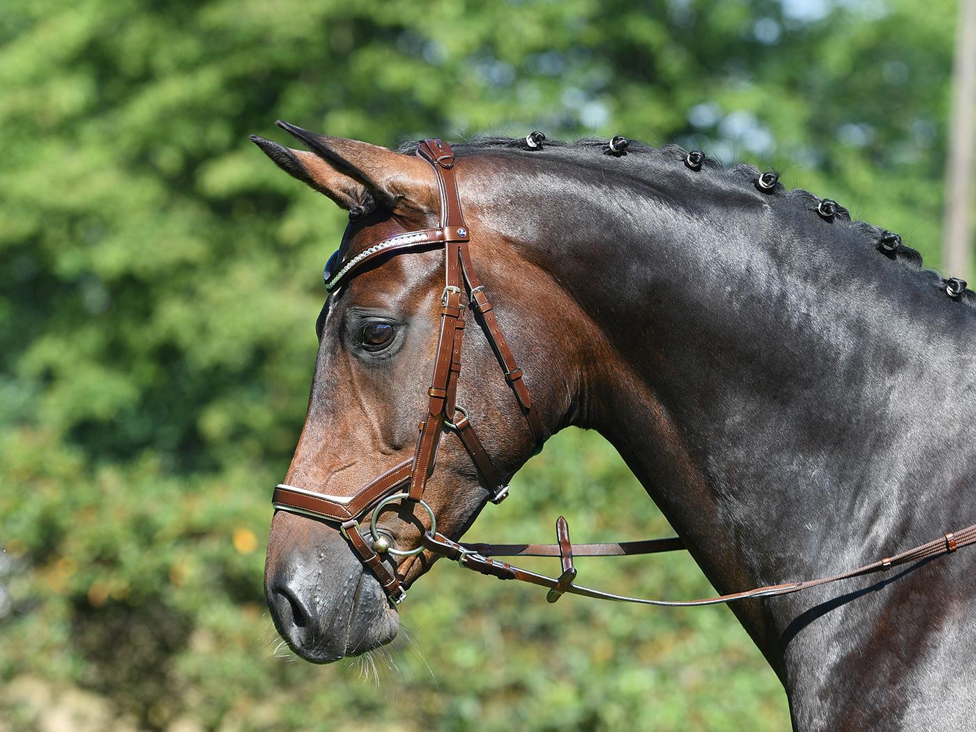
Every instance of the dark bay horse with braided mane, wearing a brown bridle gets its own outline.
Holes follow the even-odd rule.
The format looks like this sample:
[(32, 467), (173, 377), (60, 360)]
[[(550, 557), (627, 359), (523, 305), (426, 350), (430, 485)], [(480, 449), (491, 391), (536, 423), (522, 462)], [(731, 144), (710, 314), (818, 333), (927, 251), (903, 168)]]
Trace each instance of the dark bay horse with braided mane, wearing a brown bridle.
[[(879, 573), (730, 604), (795, 729), (972, 723), (976, 573), (951, 531), (976, 522), (976, 296), (963, 281), (775, 172), (677, 145), (534, 133), (393, 150), (278, 124), (308, 149), (253, 142), (349, 216), (279, 486), (294, 501), (277, 505), (267, 544), (267, 603), (295, 653), (330, 663), (392, 639), (406, 588), (575, 426), (617, 449), (720, 592), (885, 557)], [(480, 327), (456, 370), (441, 342), (466, 306)], [(447, 402), (464, 414), (431, 416)], [(491, 481), (447, 434), (462, 419)], [(330, 508), (290, 509), (299, 499)], [(365, 535), (345, 520), (370, 510)], [(943, 536), (945, 550), (890, 559)]]

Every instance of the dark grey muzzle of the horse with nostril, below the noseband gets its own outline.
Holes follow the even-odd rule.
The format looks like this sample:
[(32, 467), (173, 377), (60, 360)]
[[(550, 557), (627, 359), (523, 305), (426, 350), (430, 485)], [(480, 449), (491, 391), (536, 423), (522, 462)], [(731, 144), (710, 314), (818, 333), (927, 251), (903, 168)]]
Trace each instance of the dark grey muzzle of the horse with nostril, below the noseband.
[(396, 637), (400, 617), (380, 583), (360, 571), (341, 587), (306, 595), (290, 587), (268, 593), (278, 633), (300, 658), (331, 664), (385, 645)]

